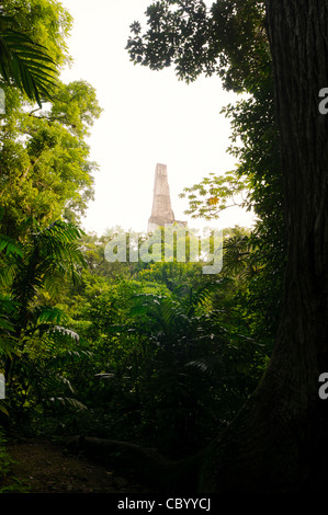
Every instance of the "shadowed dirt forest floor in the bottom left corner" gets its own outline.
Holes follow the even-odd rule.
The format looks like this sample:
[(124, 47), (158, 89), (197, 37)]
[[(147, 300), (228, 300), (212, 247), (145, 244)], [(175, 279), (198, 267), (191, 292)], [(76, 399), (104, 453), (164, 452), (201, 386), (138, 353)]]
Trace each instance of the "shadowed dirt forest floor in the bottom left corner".
[(71, 456), (48, 440), (8, 443), (13, 460), (5, 485), (11, 493), (143, 493), (108, 467)]

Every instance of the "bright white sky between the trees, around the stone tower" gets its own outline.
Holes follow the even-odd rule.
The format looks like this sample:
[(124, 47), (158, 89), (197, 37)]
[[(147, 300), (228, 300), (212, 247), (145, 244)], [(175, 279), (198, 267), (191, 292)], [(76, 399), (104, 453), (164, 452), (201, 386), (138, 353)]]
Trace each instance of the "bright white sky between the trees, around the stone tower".
[[(146, 231), (152, 205), (156, 163), (168, 167), (172, 208), (185, 220), (186, 186), (210, 172), (235, 168), (226, 153), (229, 122), (219, 114), (237, 96), (223, 91), (218, 78), (193, 84), (178, 81), (174, 70), (155, 72), (134, 66), (125, 50), (129, 24), (143, 21), (150, 0), (61, 0), (75, 23), (68, 41), (73, 66), (65, 82), (83, 79), (97, 90), (104, 110), (89, 139), (95, 174), (95, 198), (84, 229), (100, 236), (106, 228)], [(212, 2), (210, 1), (210, 4)], [(250, 226), (251, 214), (228, 209), (212, 227)], [(189, 226), (208, 226), (189, 219)]]

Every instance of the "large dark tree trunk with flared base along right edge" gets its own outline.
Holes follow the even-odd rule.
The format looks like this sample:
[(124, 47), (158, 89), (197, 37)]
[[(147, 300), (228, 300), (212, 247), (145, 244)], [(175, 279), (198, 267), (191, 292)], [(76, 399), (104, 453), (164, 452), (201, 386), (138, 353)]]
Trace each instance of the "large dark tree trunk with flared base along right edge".
[[(267, 0), (289, 256), (275, 350), (205, 460), (202, 492), (324, 491), (328, 481), (328, 0)], [(325, 484), (326, 487), (326, 484)]]

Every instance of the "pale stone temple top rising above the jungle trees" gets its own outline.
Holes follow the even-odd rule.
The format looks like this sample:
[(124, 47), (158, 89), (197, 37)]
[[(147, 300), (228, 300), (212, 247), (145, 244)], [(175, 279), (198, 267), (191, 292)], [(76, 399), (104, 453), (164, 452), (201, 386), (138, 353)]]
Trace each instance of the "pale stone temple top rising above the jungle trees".
[(185, 221), (174, 219), (174, 213), (171, 206), (168, 169), (166, 164), (158, 163), (155, 170), (152, 209), (148, 220), (148, 232), (152, 232), (157, 227), (163, 227), (168, 224), (186, 225)]

